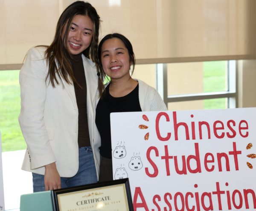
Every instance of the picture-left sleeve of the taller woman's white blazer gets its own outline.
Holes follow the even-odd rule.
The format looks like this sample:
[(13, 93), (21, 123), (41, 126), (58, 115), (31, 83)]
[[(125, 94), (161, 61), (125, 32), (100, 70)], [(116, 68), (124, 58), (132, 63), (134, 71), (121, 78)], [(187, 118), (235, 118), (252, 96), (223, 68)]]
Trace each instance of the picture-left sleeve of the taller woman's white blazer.
[(30, 49), (20, 70), (19, 123), (29, 151), (31, 169), (56, 162), (44, 124), (47, 66), (41, 49)]

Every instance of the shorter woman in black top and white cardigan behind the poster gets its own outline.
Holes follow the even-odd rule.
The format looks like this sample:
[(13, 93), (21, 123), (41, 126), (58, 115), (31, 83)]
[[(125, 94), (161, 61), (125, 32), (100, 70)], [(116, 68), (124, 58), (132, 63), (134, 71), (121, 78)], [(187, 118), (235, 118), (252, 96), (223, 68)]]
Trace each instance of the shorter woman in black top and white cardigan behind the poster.
[(99, 71), (106, 88), (99, 87), (96, 126), (101, 137), (99, 182), (113, 180), (110, 114), (112, 112), (166, 111), (158, 92), (141, 80), (133, 79), (135, 56), (130, 41), (122, 34), (108, 34), (99, 43)]

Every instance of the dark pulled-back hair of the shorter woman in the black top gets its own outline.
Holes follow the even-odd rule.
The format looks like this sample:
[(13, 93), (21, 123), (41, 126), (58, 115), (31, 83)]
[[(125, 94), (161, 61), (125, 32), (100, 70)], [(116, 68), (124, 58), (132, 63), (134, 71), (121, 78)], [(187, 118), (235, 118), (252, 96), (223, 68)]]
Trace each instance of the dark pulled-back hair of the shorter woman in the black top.
[[(134, 72), (136, 60), (135, 60), (135, 55), (134, 55), (134, 51), (133, 51), (131, 42), (122, 34), (118, 34), (118, 33), (108, 34), (105, 37), (103, 37), (103, 39), (100, 41), (99, 48), (98, 48), (99, 72), (101, 75), (101, 78), (99, 78), (99, 80), (103, 80), (103, 76), (106, 76), (106, 74), (103, 70), (102, 61), (101, 61), (102, 45), (106, 40), (109, 40), (112, 38), (118, 38), (119, 40), (121, 40), (124, 43), (125, 48), (127, 48), (127, 50), (128, 50), (128, 54), (130, 57), (130, 63), (133, 66), (133, 68), (131, 70), (131, 74), (133, 74), (133, 72)], [(99, 97), (102, 98), (105, 93), (105, 86), (103, 86), (103, 87), (98, 86), (98, 89), (99, 89)]]

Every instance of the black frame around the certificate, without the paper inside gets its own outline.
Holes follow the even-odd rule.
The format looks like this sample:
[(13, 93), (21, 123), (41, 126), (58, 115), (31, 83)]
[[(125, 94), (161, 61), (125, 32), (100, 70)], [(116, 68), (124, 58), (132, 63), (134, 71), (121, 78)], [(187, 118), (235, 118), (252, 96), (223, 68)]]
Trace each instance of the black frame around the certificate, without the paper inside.
[(129, 211), (134, 211), (133, 203), (132, 203), (132, 197), (131, 197), (131, 189), (129, 184), (129, 178), (126, 179), (120, 179), (120, 180), (112, 180), (108, 182), (97, 182), (89, 185), (79, 185), (75, 187), (70, 188), (61, 188), (57, 190), (52, 190), (52, 202), (53, 202), (53, 208), (54, 211), (60, 211), (59, 205), (58, 205), (58, 194), (66, 194), (66, 193), (72, 193), (76, 191), (84, 191), (88, 189), (94, 189), (94, 188), (103, 188), (108, 187), (112, 185), (120, 185), (125, 184), (125, 190), (126, 190), (126, 196), (127, 196), (127, 202), (128, 202), (128, 208)]

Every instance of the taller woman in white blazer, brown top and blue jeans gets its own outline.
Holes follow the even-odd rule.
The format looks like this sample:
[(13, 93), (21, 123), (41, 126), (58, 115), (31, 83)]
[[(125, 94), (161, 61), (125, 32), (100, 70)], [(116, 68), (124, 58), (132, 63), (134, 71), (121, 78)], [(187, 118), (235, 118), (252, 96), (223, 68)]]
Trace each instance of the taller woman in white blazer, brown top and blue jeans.
[(99, 27), (90, 3), (71, 4), (52, 44), (31, 48), (20, 70), (22, 169), (32, 172), (34, 192), (97, 182), (94, 119), (97, 84), (104, 87), (97, 75)]

